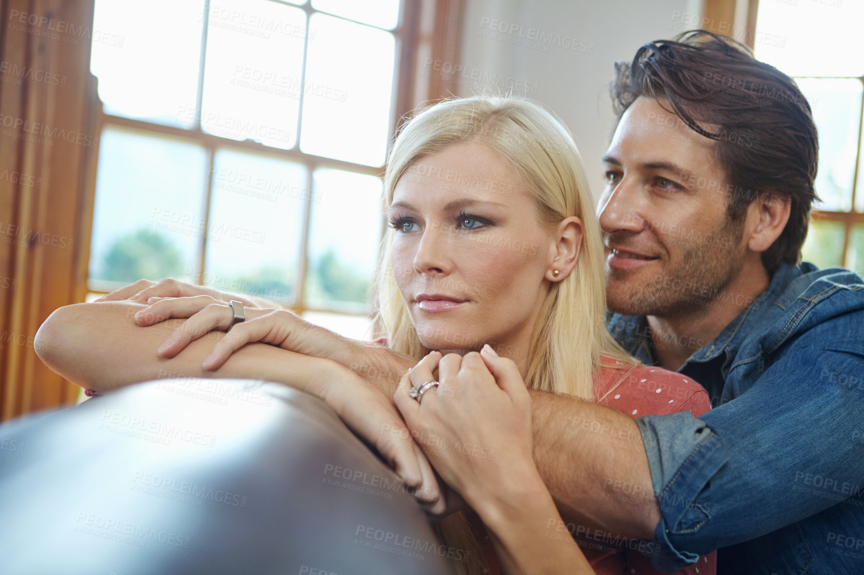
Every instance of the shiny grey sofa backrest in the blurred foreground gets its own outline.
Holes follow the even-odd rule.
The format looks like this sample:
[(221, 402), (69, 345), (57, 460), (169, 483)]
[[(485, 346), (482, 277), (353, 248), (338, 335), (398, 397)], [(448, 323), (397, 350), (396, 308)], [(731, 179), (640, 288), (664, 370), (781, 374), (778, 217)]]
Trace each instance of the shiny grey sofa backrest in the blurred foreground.
[(451, 572), (395, 474), (275, 383), (144, 382), (0, 445), (4, 575)]

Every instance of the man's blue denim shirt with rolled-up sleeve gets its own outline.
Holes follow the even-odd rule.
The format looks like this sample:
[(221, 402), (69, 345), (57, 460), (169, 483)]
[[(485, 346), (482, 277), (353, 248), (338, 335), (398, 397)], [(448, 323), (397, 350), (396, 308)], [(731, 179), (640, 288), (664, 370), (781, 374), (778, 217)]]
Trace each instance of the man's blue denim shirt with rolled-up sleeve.
[[(607, 313), (656, 364), (645, 316)], [(661, 519), (654, 565), (718, 552), (718, 572), (864, 573), (864, 281), (784, 263), (769, 287), (677, 370), (713, 409), (637, 424)]]

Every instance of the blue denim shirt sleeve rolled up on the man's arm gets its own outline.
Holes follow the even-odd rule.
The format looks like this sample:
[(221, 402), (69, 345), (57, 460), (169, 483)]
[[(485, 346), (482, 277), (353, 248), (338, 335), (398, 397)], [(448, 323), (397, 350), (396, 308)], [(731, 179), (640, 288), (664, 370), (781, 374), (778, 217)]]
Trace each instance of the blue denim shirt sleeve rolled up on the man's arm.
[[(799, 336), (733, 401), (698, 417), (636, 420), (661, 514), (655, 566), (683, 569), (700, 554), (836, 504), (826, 496), (830, 489), (801, 489), (807, 477), (829, 477), (835, 486), (861, 482), (864, 449), (850, 439), (864, 398), (864, 333), (847, 335), (848, 319), (823, 322)], [(841, 326), (845, 331), (838, 331)], [(836, 338), (840, 332), (844, 338)], [(736, 363), (729, 379), (736, 369), (761, 369), (753, 363), (761, 361)]]

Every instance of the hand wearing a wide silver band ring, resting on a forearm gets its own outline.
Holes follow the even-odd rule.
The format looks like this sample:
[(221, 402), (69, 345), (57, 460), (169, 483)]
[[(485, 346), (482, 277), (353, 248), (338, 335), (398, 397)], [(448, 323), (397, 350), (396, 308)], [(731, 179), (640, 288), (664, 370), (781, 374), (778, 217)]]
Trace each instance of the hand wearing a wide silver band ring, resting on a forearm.
[[(169, 318), (188, 318), (159, 346), (160, 357), (175, 357), (190, 342), (212, 330), (226, 331), (234, 313), (226, 302), (209, 295), (179, 298), (153, 297), (149, 306), (135, 314), (137, 325), (154, 325)], [(244, 306), (245, 307), (245, 306)], [(222, 338), (202, 367), (213, 371), (245, 344), (260, 341), (303, 355), (329, 359), (343, 338), (310, 324), (296, 313), (284, 309), (245, 308), (245, 321), (234, 325)]]

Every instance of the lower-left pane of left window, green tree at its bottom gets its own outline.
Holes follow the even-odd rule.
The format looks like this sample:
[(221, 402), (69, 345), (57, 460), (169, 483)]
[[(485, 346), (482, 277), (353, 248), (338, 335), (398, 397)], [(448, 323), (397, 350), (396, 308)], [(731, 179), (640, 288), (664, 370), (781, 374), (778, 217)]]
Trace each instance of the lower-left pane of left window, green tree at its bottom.
[(206, 151), (106, 127), (99, 142), (90, 277), (187, 277), (200, 246)]

